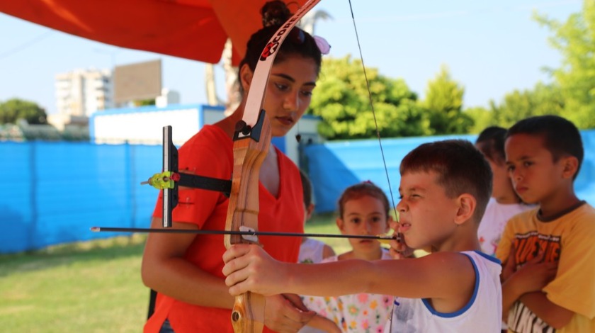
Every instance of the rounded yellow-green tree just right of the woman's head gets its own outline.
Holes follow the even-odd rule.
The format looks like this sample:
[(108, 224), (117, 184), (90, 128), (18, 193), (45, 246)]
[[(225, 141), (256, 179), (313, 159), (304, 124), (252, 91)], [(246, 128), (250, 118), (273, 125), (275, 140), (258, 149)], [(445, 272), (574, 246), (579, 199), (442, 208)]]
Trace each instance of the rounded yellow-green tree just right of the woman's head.
[(376, 124), (381, 137), (429, 134), (424, 110), (402, 79), (382, 76), (375, 68), (366, 68), (366, 74), (369, 93), (360, 60), (324, 60), (309, 110), (322, 118), (320, 135), (329, 140), (370, 138), (376, 136)]

